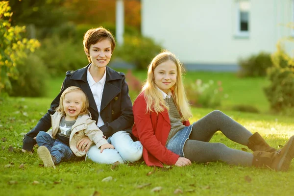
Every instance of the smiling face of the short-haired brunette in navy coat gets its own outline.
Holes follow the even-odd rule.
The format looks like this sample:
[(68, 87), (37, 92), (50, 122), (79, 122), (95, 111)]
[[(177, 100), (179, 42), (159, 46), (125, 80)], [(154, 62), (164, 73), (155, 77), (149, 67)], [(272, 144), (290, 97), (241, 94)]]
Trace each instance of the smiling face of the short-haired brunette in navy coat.
[(92, 44), (89, 49), (89, 53), (92, 65), (98, 68), (104, 68), (110, 61), (112, 50), (111, 43), (108, 39), (103, 39), (96, 44)]

